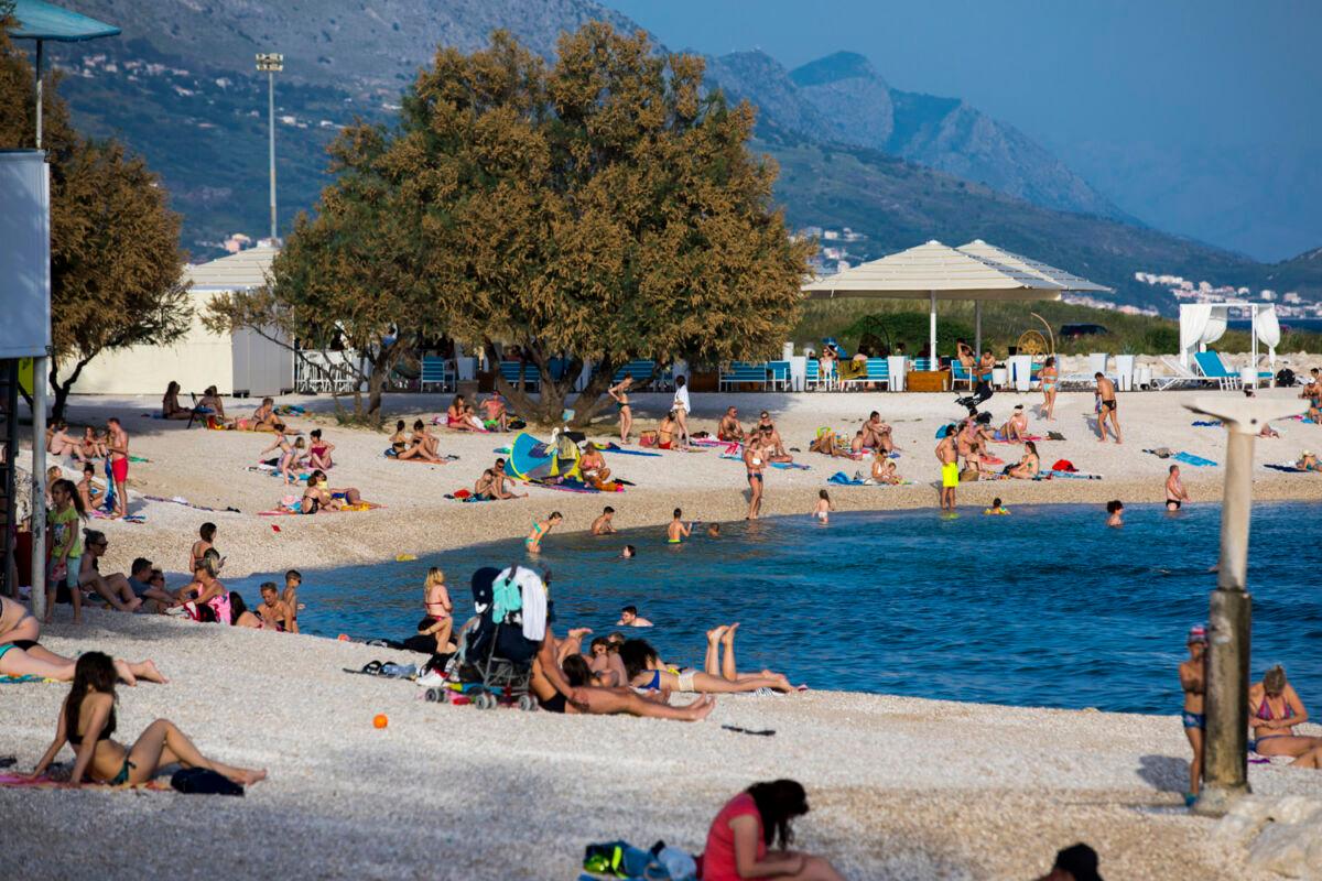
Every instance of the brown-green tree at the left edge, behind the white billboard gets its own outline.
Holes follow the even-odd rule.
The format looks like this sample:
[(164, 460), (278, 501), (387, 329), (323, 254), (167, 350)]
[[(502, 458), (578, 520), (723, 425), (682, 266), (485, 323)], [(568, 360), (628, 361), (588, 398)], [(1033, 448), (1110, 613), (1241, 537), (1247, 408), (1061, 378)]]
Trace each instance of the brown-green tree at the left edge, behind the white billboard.
[[(160, 178), (114, 140), (79, 135), (44, 88), (42, 149), (50, 164), (50, 383), (63, 413), (78, 374), (110, 349), (165, 343), (192, 318), (181, 283), (180, 218)], [(36, 145), (33, 71), (0, 28), (0, 147)]]

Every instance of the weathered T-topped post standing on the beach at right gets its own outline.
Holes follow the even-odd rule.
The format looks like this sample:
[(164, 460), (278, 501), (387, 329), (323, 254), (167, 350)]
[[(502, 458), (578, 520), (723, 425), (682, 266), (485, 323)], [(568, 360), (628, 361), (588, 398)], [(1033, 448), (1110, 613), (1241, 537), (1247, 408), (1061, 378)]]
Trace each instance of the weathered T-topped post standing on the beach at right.
[(1253, 507), (1253, 439), (1263, 425), (1302, 412), (1302, 402), (1199, 398), (1196, 413), (1225, 425), (1225, 493), (1222, 553), (1208, 610), (1203, 787), (1194, 812), (1225, 815), (1248, 794), (1248, 680), (1253, 600), (1247, 590), (1249, 514)]

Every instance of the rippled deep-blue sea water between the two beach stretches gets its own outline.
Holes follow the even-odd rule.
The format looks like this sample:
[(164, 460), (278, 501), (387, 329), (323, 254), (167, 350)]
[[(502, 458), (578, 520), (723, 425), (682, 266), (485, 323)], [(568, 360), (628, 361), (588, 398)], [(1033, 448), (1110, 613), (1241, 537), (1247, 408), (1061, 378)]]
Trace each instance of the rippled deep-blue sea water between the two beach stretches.
[[(1284, 663), (1305, 703), (1322, 703), (1322, 505), (1260, 505), (1249, 590), (1252, 671)], [(1177, 515), (1099, 506), (851, 512), (726, 523), (668, 546), (662, 528), (608, 538), (557, 535), (537, 561), (553, 572), (557, 633), (615, 629), (637, 605), (668, 662), (701, 664), (703, 633), (739, 621), (740, 670), (772, 667), (816, 688), (1107, 711), (1177, 712), (1185, 634), (1207, 614), (1220, 510)], [(637, 546), (633, 560), (620, 548)], [(526, 563), (521, 540), (410, 563), (304, 571), (300, 626), (316, 634), (410, 635), (427, 568), (444, 568), (456, 618), (472, 610), (480, 565)], [(229, 582), (250, 604), (251, 579)]]

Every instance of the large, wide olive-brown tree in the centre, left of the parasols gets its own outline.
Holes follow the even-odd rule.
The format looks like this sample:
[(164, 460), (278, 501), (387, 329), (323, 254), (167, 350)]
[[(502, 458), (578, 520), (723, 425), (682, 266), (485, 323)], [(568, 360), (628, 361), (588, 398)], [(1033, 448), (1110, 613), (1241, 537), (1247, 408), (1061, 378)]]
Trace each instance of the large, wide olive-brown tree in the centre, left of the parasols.
[(375, 296), (378, 326), (444, 329), (493, 359), (517, 345), (539, 399), (497, 382), (538, 421), (559, 419), (584, 361), (580, 424), (629, 361), (773, 354), (810, 244), (772, 206), (752, 125), (747, 103), (703, 91), (699, 58), (602, 22), (562, 37), (553, 63), (505, 32), (442, 48), (394, 125), (341, 135), (274, 301), (338, 318), (346, 296)]

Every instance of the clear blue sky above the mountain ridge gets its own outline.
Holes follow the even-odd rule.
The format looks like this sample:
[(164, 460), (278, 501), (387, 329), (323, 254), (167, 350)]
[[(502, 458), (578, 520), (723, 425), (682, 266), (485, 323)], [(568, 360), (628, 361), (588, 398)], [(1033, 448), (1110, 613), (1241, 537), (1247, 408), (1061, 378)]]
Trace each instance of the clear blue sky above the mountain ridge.
[(1322, 246), (1322, 3), (604, 0), (672, 49), (847, 49), (964, 98), (1157, 226), (1255, 256)]

